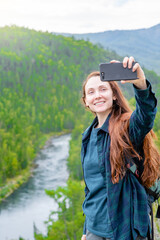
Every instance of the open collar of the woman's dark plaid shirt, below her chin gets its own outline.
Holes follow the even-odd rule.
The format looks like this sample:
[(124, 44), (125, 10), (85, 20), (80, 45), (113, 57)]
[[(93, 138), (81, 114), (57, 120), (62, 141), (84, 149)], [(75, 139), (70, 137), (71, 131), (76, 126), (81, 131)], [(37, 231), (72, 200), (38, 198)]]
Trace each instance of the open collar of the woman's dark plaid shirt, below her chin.
[[(105, 122), (103, 123), (102, 127), (100, 128), (102, 131), (109, 133), (108, 126), (109, 126), (109, 119), (111, 117), (111, 113), (106, 118)], [(82, 141), (85, 141), (91, 133), (92, 127), (95, 125), (95, 123), (98, 123), (98, 118), (95, 117), (91, 125), (82, 133)]]

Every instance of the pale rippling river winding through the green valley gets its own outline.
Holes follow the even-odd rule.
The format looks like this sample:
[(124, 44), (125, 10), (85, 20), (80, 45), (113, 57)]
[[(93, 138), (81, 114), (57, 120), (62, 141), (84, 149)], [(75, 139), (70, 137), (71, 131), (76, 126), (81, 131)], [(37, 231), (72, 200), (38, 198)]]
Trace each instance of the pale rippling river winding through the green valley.
[(70, 134), (51, 138), (35, 159), (33, 177), (0, 204), (0, 240), (33, 240), (34, 225), (47, 233), (44, 221), (57, 204), (45, 189), (66, 186), (69, 140)]

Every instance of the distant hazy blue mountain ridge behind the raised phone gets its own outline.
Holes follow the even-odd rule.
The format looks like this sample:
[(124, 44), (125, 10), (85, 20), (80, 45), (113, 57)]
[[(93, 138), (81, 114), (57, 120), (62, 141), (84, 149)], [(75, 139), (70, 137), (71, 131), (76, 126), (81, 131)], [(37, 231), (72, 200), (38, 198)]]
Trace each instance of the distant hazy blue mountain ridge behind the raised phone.
[(160, 24), (138, 30), (114, 30), (86, 34), (63, 34), (89, 40), (119, 55), (133, 55), (147, 69), (160, 74)]

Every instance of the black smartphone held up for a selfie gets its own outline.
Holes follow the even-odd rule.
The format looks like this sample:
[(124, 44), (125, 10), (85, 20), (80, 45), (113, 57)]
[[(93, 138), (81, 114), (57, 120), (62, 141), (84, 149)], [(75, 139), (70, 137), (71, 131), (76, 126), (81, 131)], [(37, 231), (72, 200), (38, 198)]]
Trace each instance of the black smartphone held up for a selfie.
[[(132, 67), (135, 63), (136, 62), (132, 64)], [(121, 81), (138, 79), (137, 71), (132, 72), (132, 68), (124, 68), (123, 63), (101, 63), (99, 67), (101, 81)]]

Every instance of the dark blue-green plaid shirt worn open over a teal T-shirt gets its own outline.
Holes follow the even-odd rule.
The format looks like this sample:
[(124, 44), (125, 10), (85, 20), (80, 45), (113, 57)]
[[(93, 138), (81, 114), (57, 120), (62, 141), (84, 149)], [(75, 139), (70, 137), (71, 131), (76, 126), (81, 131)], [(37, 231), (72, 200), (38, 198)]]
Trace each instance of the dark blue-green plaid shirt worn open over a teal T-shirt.
[[(152, 129), (157, 111), (157, 100), (148, 81), (147, 86), (145, 90), (137, 89), (134, 86), (136, 110), (130, 117), (129, 136), (136, 149), (141, 147), (144, 137)], [(97, 137), (97, 147), (100, 171), (104, 177), (106, 176), (108, 212), (114, 239), (131, 240), (136, 239), (139, 234), (147, 237), (150, 220), (147, 211), (148, 198), (144, 187), (129, 171), (127, 171), (119, 183), (113, 184), (111, 181), (110, 136), (108, 132), (109, 118), (110, 115), (106, 119), (105, 124), (103, 124), (101, 136), (98, 135), (99, 137)], [(82, 168), (90, 132), (96, 121), (97, 118), (94, 119), (82, 136)], [(134, 159), (134, 161), (135, 160), (136, 159)], [(136, 161), (136, 164), (138, 164), (138, 162), (139, 165), (143, 165), (142, 161)], [(143, 166), (138, 167), (143, 168)], [(106, 174), (104, 174), (104, 172), (106, 172)], [(88, 189), (86, 186), (85, 196), (87, 193)]]

